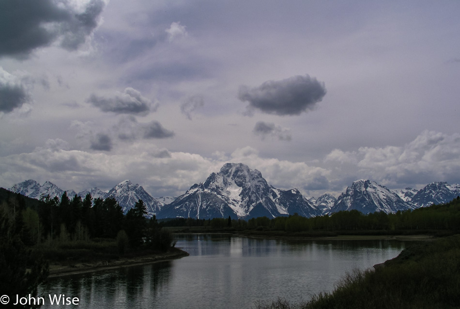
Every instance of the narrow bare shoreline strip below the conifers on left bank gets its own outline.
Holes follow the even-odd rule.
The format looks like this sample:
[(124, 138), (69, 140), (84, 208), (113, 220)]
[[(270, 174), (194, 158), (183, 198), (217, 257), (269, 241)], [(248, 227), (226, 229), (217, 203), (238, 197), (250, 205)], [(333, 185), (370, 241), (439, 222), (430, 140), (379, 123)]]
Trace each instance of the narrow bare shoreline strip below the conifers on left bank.
[(108, 270), (122, 267), (130, 267), (137, 265), (147, 265), (156, 262), (162, 262), (167, 260), (176, 260), (189, 256), (188, 252), (185, 252), (181, 248), (171, 248), (170, 251), (165, 253), (152, 254), (147, 256), (140, 256), (135, 258), (123, 258), (119, 260), (111, 261), (97, 261), (88, 263), (75, 263), (72, 265), (59, 265), (49, 263), (49, 275), (48, 278), (55, 278), (60, 276), (77, 275), (84, 273), (91, 273), (100, 270)]

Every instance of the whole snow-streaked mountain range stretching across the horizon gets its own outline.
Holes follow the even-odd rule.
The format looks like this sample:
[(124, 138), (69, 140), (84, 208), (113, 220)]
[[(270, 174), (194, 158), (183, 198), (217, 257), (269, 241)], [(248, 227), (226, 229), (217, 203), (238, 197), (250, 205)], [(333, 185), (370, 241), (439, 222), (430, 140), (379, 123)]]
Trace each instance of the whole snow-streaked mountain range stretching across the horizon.
[[(50, 195), (59, 198), (64, 190), (46, 181), (40, 185), (35, 180), (26, 180), (13, 185), (10, 191), (39, 199)], [(92, 188), (76, 193), (66, 191), (72, 198), (114, 197), (126, 213), (142, 199), (147, 206), (148, 217), (191, 217), (199, 219), (243, 218), (260, 216), (269, 218), (288, 216), (294, 213), (305, 217), (331, 214), (337, 211), (358, 210), (363, 213), (384, 211), (386, 213), (413, 210), (431, 204), (442, 204), (460, 195), (459, 184), (432, 182), (421, 190), (405, 188), (392, 191), (368, 179), (353, 181), (345, 192), (334, 197), (324, 194), (318, 198), (306, 197), (298, 189), (282, 190), (270, 185), (257, 169), (242, 163), (226, 163), (219, 172), (212, 173), (204, 181), (194, 184), (178, 197), (154, 198), (139, 184), (124, 180), (109, 191)]]

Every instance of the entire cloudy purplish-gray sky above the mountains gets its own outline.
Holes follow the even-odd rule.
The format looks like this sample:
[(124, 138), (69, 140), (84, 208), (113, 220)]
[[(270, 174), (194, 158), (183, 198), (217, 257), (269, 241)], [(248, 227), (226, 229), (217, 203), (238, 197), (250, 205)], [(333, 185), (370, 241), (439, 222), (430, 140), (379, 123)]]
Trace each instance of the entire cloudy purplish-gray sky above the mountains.
[(0, 1), (0, 186), (460, 183), (460, 1)]

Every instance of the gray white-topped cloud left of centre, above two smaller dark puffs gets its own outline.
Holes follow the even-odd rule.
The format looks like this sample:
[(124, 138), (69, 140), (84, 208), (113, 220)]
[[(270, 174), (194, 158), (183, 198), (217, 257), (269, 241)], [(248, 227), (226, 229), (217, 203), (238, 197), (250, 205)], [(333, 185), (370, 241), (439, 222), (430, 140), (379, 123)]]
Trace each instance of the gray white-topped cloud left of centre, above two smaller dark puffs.
[[(152, 101), (142, 97), (140, 92), (133, 88), (126, 88), (123, 93), (117, 93), (111, 98), (104, 98), (92, 94), (86, 100), (103, 112), (117, 114), (148, 114), (151, 110)], [(156, 110), (153, 106), (153, 111)]]

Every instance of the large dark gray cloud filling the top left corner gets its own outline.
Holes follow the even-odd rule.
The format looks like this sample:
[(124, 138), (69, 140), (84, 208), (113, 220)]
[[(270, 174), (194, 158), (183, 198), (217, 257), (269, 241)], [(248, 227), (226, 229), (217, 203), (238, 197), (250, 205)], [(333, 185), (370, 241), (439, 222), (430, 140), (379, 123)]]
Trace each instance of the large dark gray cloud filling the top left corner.
[(2, 0), (0, 56), (28, 58), (58, 40), (62, 48), (75, 50), (97, 27), (104, 6), (103, 0), (91, 0), (80, 11), (67, 0)]

